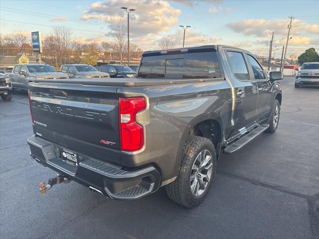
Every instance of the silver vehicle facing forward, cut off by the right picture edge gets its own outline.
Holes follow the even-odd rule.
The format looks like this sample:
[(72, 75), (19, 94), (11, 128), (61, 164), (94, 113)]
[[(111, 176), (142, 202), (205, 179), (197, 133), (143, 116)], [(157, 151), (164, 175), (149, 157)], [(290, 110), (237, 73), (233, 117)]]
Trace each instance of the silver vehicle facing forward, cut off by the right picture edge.
[(300, 69), (296, 69), (297, 75), (295, 87), (299, 88), (302, 85), (319, 86), (319, 62), (304, 63)]

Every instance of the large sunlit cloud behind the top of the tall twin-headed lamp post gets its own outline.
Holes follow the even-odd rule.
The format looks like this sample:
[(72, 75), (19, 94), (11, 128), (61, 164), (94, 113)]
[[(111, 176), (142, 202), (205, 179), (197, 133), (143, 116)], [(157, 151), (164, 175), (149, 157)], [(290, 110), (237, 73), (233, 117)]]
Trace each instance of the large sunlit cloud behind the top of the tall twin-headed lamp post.
[(122, 6), (136, 9), (130, 14), (130, 33), (132, 37), (146, 34), (158, 34), (170, 30), (171, 26), (178, 23), (179, 9), (173, 8), (168, 1), (156, 0), (108, 0), (98, 1), (84, 11), (82, 19), (102, 20), (109, 23), (112, 31), (119, 32), (119, 21), (127, 22), (127, 13)]

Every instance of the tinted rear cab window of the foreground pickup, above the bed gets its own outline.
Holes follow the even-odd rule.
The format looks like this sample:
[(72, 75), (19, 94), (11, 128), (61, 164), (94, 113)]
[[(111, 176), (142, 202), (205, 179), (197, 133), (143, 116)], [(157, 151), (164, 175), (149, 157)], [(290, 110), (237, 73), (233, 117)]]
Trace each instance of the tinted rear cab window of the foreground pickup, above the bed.
[(222, 78), (216, 51), (144, 56), (139, 78)]

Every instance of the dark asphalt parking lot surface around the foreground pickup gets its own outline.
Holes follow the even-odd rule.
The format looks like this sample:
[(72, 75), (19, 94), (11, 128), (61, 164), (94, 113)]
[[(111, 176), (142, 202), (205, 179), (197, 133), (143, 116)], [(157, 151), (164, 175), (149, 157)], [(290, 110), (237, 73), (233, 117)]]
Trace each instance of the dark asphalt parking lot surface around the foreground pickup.
[(206, 200), (186, 209), (165, 190), (115, 201), (75, 182), (39, 183), (55, 172), (29, 156), (27, 94), (0, 101), (0, 238), (319, 238), (319, 89), (281, 81), (276, 133), (222, 155)]

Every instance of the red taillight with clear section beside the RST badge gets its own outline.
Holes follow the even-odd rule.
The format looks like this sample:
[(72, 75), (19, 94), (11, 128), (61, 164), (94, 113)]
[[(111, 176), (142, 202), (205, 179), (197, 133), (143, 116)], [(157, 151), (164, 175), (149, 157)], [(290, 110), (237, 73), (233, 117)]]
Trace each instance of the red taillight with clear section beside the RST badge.
[(121, 149), (136, 151), (144, 145), (144, 127), (136, 121), (136, 115), (146, 109), (144, 97), (120, 97), (119, 121)]

